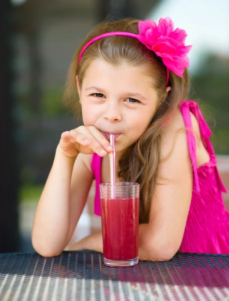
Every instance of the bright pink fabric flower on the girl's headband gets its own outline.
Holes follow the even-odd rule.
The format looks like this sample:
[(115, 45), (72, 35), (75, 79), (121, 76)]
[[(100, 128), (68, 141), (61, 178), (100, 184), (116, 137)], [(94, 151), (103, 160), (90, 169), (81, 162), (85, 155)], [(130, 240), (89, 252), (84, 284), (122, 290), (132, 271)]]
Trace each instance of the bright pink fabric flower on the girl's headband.
[(138, 40), (157, 56), (161, 57), (164, 65), (183, 77), (185, 68), (189, 67), (188, 52), (192, 46), (185, 46), (186, 32), (183, 29), (174, 29), (169, 17), (160, 19), (158, 25), (150, 19), (138, 22)]

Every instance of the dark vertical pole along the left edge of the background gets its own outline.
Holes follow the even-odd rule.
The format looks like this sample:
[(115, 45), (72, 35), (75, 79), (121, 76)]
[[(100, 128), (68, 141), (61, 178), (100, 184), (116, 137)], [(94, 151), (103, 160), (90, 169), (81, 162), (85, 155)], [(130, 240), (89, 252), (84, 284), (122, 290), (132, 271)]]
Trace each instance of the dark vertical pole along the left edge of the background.
[(13, 127), (11, 6), (0, 1), (0, 252), (18, 250), (17, 152)]

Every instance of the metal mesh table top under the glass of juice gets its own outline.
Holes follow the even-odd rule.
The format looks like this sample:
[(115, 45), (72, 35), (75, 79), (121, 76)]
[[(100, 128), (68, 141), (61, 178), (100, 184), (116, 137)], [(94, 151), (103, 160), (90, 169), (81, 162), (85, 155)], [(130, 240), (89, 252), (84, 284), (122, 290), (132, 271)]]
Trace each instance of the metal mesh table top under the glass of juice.
[(229, 256), (176, 254), (107, 267), (102, 254), (0, 254), (0, 300), (229, 300)]

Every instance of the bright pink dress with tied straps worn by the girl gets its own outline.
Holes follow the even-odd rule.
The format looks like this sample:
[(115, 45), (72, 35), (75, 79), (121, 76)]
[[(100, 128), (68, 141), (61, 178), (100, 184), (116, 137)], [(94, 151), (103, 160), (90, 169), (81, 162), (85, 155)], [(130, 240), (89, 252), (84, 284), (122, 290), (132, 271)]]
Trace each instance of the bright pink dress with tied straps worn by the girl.
[[(226, 211), (222, 192), (227, 192), (216, 167), (216, 158), (209, 136), (211, 131), (194, 101), (184, 101), (180, 107), (186, 127), (187, 144), (193, 168), (193, 188), (184, 230), (181, 252), (229, 254), (229, 213)], [(196, 166), (195, 136), (191, 124), (192, 112), (199, 124), (203, 144), (210, 161)], [(101, 157), (93, 154), (91, 169), (95, 178), (94, 213), (101, 215), (99, 184), (101, 183)]]

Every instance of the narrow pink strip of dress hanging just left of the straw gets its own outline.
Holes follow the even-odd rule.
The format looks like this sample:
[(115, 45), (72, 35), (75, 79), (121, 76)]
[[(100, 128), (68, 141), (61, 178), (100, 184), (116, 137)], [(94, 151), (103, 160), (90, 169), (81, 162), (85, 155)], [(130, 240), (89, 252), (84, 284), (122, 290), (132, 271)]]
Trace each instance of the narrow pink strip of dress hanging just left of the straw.
[(92, 155), (91, 170), (95, 179), (95, 196), (94, 196), (94, 214), (101, 215), (99, 184), (101, 183), (101, 157), (97, 154)]

